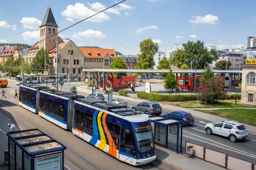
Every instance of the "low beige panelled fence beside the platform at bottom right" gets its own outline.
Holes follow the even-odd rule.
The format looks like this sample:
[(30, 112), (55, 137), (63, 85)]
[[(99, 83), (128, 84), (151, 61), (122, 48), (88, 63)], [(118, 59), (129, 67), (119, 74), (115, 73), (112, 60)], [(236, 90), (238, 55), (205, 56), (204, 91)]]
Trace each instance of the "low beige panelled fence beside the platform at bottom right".
[(220, 152), (211, 148), (207, 148), (204, 147), (204, 145), (196, 144), (193, 142), (185, 142), (185, 153), (187, 153), (188, 144), (193, 145), (192, 155), (201, 158), (204, 161), (223, 166), (225, 167), (225, 169), (230, 170), (256, 170), (256, 164), (253, 164), (252, 161), (228, 155), (225, 152)]

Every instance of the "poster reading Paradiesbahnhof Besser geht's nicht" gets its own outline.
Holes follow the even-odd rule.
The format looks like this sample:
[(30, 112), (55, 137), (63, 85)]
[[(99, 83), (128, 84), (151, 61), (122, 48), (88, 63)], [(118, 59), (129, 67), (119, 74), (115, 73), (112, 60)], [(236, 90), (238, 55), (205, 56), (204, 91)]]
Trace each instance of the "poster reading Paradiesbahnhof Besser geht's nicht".
[(62, 170), (61, 154), (36, 157), (35, 170)]

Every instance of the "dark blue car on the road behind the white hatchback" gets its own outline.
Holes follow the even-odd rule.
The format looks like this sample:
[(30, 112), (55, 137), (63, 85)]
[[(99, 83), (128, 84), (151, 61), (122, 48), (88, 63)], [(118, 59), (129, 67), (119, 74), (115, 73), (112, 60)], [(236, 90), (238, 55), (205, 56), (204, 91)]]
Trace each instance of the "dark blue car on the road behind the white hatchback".
[(183, 121), (183, 125), (191, 125), (195, 123), (194, 117), (190, 113), (184, 111), (175, 111), (161, 116)]

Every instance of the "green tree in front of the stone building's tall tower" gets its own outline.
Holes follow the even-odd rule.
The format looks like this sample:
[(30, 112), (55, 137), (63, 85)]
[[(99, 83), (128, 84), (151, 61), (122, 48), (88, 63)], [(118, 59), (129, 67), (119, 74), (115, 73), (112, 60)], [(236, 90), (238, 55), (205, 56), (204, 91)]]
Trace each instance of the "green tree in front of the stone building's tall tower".
[[(31, 63), (31, 67), (36, 66), (36, 69), (32, 69), (33, 73), (40, 73), (42, 72), (44, 74), (44, 55), (46, 55), (46, 69), (50, 69), (51, 66), (51, 58), (48, 56), (48, 52), (46, 50), (44, 50), (44, 48), (41, 48), (40, 50), (38, 50), (38, 52), (36, 53), (35, 58), (33, 58), (32, 63)], [(24, 66), (24, 63), (23, 63)]]

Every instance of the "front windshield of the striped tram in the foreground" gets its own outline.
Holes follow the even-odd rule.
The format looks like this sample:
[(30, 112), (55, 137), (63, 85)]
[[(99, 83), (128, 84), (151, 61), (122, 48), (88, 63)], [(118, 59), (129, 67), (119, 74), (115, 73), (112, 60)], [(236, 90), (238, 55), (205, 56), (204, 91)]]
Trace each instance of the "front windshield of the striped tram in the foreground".
[(134, 127), (138, 151), (147, 152), (154, 144), (151, 124)]

